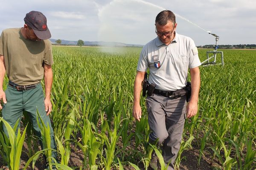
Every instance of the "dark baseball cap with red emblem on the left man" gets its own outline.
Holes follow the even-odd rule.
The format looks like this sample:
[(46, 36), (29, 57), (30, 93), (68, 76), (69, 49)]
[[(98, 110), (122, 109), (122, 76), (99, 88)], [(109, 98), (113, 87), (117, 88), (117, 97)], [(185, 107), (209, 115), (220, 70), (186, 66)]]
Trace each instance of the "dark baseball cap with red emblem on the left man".
[(47, 27), (47, 19), (39, 11), (30, 11), (24, 18), (25, 24), (33, 29), (35, 35), (41, 39), (46, 40), (51, 37), (51, 33)]

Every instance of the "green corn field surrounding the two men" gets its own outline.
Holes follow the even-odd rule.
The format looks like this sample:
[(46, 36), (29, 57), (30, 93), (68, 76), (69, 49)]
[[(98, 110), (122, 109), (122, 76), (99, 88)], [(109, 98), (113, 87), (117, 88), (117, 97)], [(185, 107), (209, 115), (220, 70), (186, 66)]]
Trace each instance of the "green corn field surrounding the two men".
[[(53, 47), (50, 117), (59, 161), (49, 161), (50, 165), (62, 170), (148, 169), (149, 153), (156, 148), (147, 142), (150, 129), (145, 98), (141, 97), (141, 121), (136, 122), (132, 116), (140, 51), (141, 48), (135, 47)], [(206, 59), (206, 51), (199, 49), (201, 61)], [(192, 119), (186, 119), (176, 169), (180, 169), (182, 161), (191, 161), (183, 153), (195, 149), (197, 169), (206, 159), (212, 169), (256, 168), (256, 51), (220, 51), (224, 52), (224, 67), (200, 67), (199, 111)], [(4, 88), (6, 85), (7, 78)], [(0, 121), (2, 124), (3, 120)], [(9, 130), (14, 134), (15, 131)], [(40, 161), (40, 155), (49, 155), (51, 149), (38, 150), (28, 122), (23, 121), (23, 131), (27, 134), (26, 155), (30, 158), (24, 169), (32, 168), (36, 160)], [(0, 165), (9, 161), (6, 163), (13, 164), (10, 170), (20, 169), (17, 156), (22, 148), (18, 142), (24, 136), (18, 132), (17, 137), (8, 139), (0, 127)], [(44, 136), (47, 140), (47, 129)], [(6, 156), (10, 152), (16, 157)], [(160, 152), (157, 152), (159, 167), (165, 170)], [(81, 155), (79, 164), (70, 161), (76, 153)]]

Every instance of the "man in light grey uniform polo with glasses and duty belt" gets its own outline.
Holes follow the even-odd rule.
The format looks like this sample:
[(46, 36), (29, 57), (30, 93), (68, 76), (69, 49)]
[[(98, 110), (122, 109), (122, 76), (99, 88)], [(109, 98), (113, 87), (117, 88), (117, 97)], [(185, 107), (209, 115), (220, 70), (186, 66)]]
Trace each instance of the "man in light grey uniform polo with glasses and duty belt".
[[(134, 82), (133, 116), (140, 121), (140, 93), (147, 69), (149, 84), (154, 84), (154, 94), (147, 96), (148, 124), (151, 129), (149, 143), (163, 143), (163, 159), (174, 170), (174, 162), (180, 149), (185, 117), (198, 112), (201, 62), (194, 41), (177, 34), (175, 14), (161, 11), (155, 20), (157, 37), (142, 49)], [(191, 98), (175, 96), (173, 91), (187, 85), (188, 69), (191, 75)], [(150, 167), (157, 169), (157, 156), (152, 153)]]

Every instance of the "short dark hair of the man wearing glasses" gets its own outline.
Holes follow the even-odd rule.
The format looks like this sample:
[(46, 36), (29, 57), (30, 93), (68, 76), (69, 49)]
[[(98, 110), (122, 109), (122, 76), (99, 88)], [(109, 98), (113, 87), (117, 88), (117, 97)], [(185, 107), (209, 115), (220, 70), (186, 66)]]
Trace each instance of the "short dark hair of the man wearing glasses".
[(155, 23), (158, 23), (161, 26), (164, 26), (168, 23), (168, 21), (171, 21), (173, 25), (175, 25), (175, 14), (172, 11), (164, 10), (161, 11), (159, 14), (157, 14)]

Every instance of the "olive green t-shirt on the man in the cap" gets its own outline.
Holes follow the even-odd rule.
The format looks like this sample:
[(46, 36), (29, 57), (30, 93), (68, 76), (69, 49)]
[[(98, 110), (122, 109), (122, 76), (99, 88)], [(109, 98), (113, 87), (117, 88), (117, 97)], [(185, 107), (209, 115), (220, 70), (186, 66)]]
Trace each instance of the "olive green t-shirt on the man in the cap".
[(44, 64), (52, 65), (52, 44), (49, 40), (25, 39), (20, 28), (3, 30), (0, 37), (6, 74), (17, 85), (32, 85), (44, 77)]

